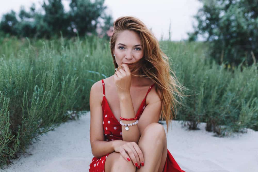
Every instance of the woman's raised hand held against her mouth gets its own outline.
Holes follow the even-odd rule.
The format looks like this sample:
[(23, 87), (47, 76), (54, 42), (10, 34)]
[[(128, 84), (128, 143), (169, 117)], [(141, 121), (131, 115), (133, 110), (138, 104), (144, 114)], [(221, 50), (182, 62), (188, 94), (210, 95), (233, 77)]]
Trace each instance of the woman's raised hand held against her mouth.
[(122, 94), (130, 94), (131, 88), (131, 71), (127, 64), (122, 63), (119, 70), (114, 74), (114, 83), (118, 96)]

